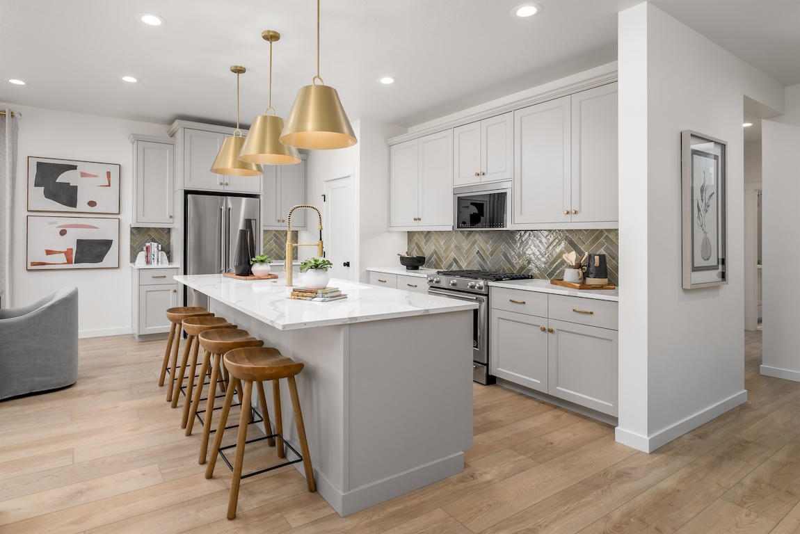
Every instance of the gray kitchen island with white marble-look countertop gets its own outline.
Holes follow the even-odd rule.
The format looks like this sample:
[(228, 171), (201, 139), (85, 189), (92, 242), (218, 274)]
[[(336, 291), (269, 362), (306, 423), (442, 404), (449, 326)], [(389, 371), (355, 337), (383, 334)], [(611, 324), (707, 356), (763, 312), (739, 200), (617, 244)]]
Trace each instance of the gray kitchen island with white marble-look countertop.
[[(462, 472), (472, 445), (473, 303), (341, 280), (330, 286), (346, 299), (298, 301), (282, 279), (174, 278), (305, 364), (297, 381), (314, 477), (339, 515)], [(296, 444), (290, 403), (282, 408)]]

